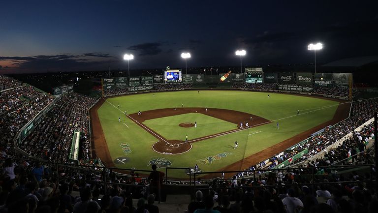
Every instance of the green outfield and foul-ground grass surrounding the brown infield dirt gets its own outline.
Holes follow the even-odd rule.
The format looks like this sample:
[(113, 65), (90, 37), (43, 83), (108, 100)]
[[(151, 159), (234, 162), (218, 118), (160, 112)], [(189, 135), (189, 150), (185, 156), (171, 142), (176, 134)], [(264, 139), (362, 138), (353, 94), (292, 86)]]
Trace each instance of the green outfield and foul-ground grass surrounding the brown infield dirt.
[[(155, 93), (155, 97), (153, 93), (126, 95), (108, 98), (108, 102), (103, 103), (98, 109), (98, 116), (112, 159), (121, 156), (129, 158), (125, 164), (117, 164), (121, 168), (150, 169), (148, 165), (150, 160), (164, 158), (172, 163), (172, 167), (193, 167), (197, 163), (203, 171), (215, 171), (331, 120), (339, 103), (281, 93), (270, 93), (270, 98), (268, 98), (267, 94), (267, 92), (251, 91), (200, 91), (199, 94), (197, 91), (173, 91), (158, 92)], [(131, 114), (139, 110), (181, 107), (182, 103), (185, 107), (242, 111), (273, 122), (192, 143), (192, 149), (180, 155), (165, 155), (154, 152), (151, 148), (158, 139), (124, 115), (125, 111)], [(120, 105), (120, 109), (117, 109), (117, 105)], [(300, 110), (298, 116), (296, 115), (297, 110)], [(118, 122), (119, 117), (121, 117), (121, 122)], [(171, 119), (173, 125), (179, 122), (176, 121), (176, 116), (163, 119), (166, 123), (169, 123)], [(155, 121), (146, 121), (146, 124), (151, 125), (151, 128), (167, 139), (173, 139), (166, 136), (169, 128), (165, 129), (163, 125), (153, 125), (152, 122)], [(183, 122), (187, 122), (187, 120)], [(276, 127), (277, 122), (280, 124), (280, 129)], [(177, 126), (177, 128), (181, 127)], [(190, 131), (193, 129), (190, 128)], [(178, 140), (183, 140), (181, 133), (177, 137)], [(235, 140), (239, 142), (239, 147), (236, 150), (233, 149)], [(120, 146), (121, 143), (128, 143), (131, 152), (126, 154)], [(222, 154), (220, 155), (220, 153)], [(211, 163), (204, 160), (211, 156), (215, 156), (210, 158), (214, 159)], [(172, 170), (169, 176), (187, 177), (182, 171), (176, 170)]]

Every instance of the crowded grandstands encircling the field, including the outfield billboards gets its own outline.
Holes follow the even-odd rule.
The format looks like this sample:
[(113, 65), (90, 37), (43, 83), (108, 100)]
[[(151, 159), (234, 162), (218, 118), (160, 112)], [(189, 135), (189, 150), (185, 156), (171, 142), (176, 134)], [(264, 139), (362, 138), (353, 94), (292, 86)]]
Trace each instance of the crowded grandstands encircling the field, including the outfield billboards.
[[(149, 170), (112, 168), (97, 158), (90, 114), (97, 98), (68, 90), (69, 87), (62, 89), (66, 86), (59, 89), (59, 94), (50, 95), (0, 76), (1, 211), (25, 212), (27, 206), (38, 205), (40, 212), (44, 206), (57, 212), (75, 212), (77, 203), (93, 196), (93, 201), (88, 202), (94, 209), (133, 212), (140, 211), (138, 205), (144, 202), (141, 198), (151, 201), (149, 195), (155, 192), (155, 205), (160, 212), (192, 212), (191, 206), (198, 205), (190, 202), (192, 198), (205, 205), (215, 203), (214, 209), (220, 212), (233, 213), (376, 212), (373, 144), (377, 144), (377, 127), (373, 122), (378, 99), (352, 101), (351, 77), (335, 81), (339, 73), (323, 75), (327, 77), (322, 80), (332, 81), (334, 87), (316, 86), (315, 75), (309, 77), (314, 79), (310, 83), (284, 83), (279, 80), (283, 73), (267, 74), (273, 77), (264, 83), (246, 82), (247, 77), (240, 82), (235, 75), (231, 79), (238, 80), (217, 85), (214, 79), (221, 75), (186, 75), (186, 82), (181, 84), (165, 84), (158, 80), (163, 77), (155, 76), (151, 85), (147, 78), (141, 81), (140, 77), (140, 85), (132, 87), (118, 87), (121, 80), (113, 78), (114, 83), (102, 81), (103, 96), (219, 86), (350, 100), (349, 117), (241, 171), (192, 171), (189, 179), (177, 180), (170, 178), (169, 171), (183, 168), (167, 167), (164, 179), (158, 176), (162, 187), (156, 188), (143, 175)], [(304, 76), (289, 75), (293, 79)], [(75, 196), (82, 201), (75, 200)]]

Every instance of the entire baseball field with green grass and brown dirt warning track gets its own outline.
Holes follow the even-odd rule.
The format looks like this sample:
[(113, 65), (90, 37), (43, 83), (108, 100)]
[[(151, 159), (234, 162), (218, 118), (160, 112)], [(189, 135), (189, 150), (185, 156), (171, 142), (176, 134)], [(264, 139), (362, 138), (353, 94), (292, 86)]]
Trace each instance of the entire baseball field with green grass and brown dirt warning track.
[[(93, 149), (118, 168), (150, 170), (155, 163), (161, 171), (195, 164), (202, 171), (241, 170), (346, 118), (350, 105), (341, 103), (221, 90), (110, 97), (91, 110)], [(171, 170), (169, 177), (189, 178), (184, 170)]]

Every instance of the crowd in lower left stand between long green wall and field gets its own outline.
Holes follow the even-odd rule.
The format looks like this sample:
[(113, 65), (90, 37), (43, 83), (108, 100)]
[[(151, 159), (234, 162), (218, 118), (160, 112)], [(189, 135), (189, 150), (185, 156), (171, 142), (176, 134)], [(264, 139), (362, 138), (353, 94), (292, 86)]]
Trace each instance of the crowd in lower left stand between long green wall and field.
[(20, 148), (32, 156), (53, 162), (66, 163), (72, 143), (73, 132), (84, 133), (81, 141), (81, 160), (91, 158), (89, 138), (88, 109), (96, 102), (95, 98), (76, 92), (63, 94), (53, 109), (34, 131), (20, 145)]

